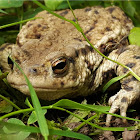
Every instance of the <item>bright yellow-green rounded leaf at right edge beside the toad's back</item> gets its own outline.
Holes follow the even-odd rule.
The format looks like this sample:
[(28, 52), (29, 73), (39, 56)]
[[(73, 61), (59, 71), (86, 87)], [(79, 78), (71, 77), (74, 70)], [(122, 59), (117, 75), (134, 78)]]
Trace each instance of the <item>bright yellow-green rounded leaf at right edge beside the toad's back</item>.
[(128, 36), (130, 44), (140, 46), (140, 27), (134, 27)]

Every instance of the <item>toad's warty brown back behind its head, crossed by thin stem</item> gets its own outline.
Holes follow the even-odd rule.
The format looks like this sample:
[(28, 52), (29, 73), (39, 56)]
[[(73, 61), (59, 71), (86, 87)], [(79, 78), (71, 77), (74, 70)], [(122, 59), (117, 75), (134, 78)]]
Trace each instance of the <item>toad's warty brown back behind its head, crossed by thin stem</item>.
[[(74, 13), (86, 37), (96, 47), (112, 40), (113, 43), (118, 42), (132, 28), (131, 20), (118, 7), (76, 9)], [(59, 11), (57, 14), (75, 21), (70, 10)], [(64, 46), (65, 44), (67, 46), (74, 39), (85, 40), (77, 29), (67, 21), (46, 11), (39, 13), (37, 17), (43, 19), (28, 22), (20, 31), (17, 38), (17, 43), (20, 46), (31, 39), (44, 37), (48, 41), (48, 45), (51, 46)]]

